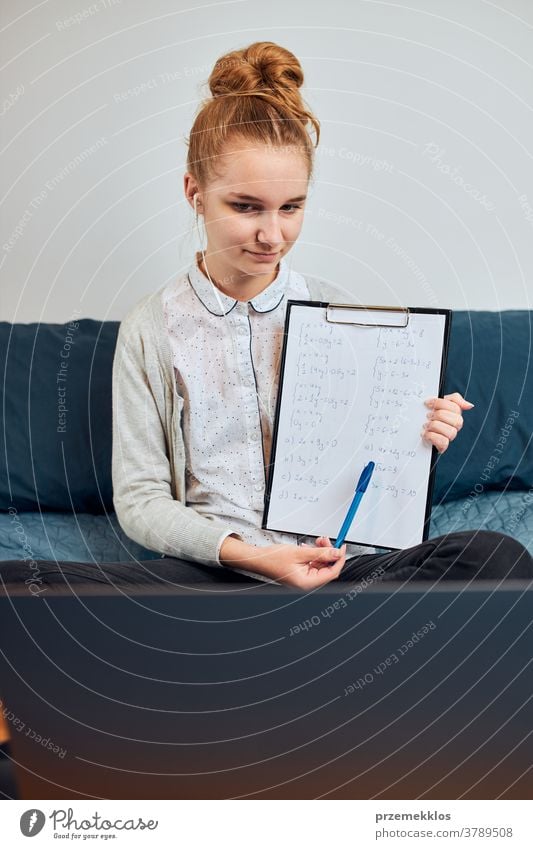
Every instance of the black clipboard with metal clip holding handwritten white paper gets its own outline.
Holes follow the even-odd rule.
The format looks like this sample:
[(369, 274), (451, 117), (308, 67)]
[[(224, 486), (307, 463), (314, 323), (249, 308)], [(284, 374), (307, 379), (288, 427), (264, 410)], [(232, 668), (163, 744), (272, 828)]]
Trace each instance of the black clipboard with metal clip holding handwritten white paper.
[(262, 527), (334, 540), (370, 460), (346, 542), (428, 538), (438, 451), (422, 439), (442, 396), (452, 311), (289, 300)]

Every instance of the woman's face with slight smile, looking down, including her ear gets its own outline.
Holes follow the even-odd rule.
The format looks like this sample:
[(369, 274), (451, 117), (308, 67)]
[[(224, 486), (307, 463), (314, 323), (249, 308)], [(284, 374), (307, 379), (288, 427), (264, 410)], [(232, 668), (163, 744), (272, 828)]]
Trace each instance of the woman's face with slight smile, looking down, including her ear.
[[(277, 274), (303, 224), (308, 189), (306, 159), (296, 147), (228, 144), (217, 162), (221, 175), (198, 190), (186, 175), (189, 201), (198, 190), (210, 275), (228, 294), (250, 295)], [(189, 177), (189, 181), (187, 180)]]

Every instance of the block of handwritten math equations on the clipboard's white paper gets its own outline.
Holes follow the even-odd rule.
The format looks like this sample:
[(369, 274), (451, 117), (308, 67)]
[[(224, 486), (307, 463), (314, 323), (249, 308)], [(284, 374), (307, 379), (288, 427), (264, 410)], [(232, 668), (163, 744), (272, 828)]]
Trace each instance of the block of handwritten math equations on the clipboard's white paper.
[(322, 317), (298, 323), (280, 410), (281, 501), (317, 502), (335, 484), (335, 469), (357, 453), (376, 462), (372, 488), (394, 499), (416, 496), (415, 486), (396, 479), (416, 457), (409, 411), (417, 410), (418, 423), (433, 366), (426, 328), (365, 330), (354, 341), (352, 328)]

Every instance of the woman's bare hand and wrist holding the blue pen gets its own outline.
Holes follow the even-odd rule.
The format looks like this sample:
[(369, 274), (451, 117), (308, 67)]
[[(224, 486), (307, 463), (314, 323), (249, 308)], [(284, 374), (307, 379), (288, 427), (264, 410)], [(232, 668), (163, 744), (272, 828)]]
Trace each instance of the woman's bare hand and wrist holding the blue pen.
[(319, 537), (315, 546), (276, 543), (263, 547), (229, 536), (219, 558), (221, 563), (259, 572), (280, 584), (313, 590), (339, 577), (346, 562), (346, 546), (333, 548), (329, 539)]

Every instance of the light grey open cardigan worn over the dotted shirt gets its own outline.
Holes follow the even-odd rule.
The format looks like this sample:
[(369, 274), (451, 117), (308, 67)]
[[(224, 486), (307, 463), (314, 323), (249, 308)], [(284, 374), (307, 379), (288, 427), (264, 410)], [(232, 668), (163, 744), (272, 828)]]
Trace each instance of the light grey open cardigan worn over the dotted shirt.
[[(311, 300), (351, 300), (328, 283), (305, 280)], [(183, 398), (165, 326), (164, 288), (144, 297), (119, 328), (113, 360), (113, 504), (124, 532), (145, 548), (216, 566), (223, 539), (236, 532), (185, 504)]]

